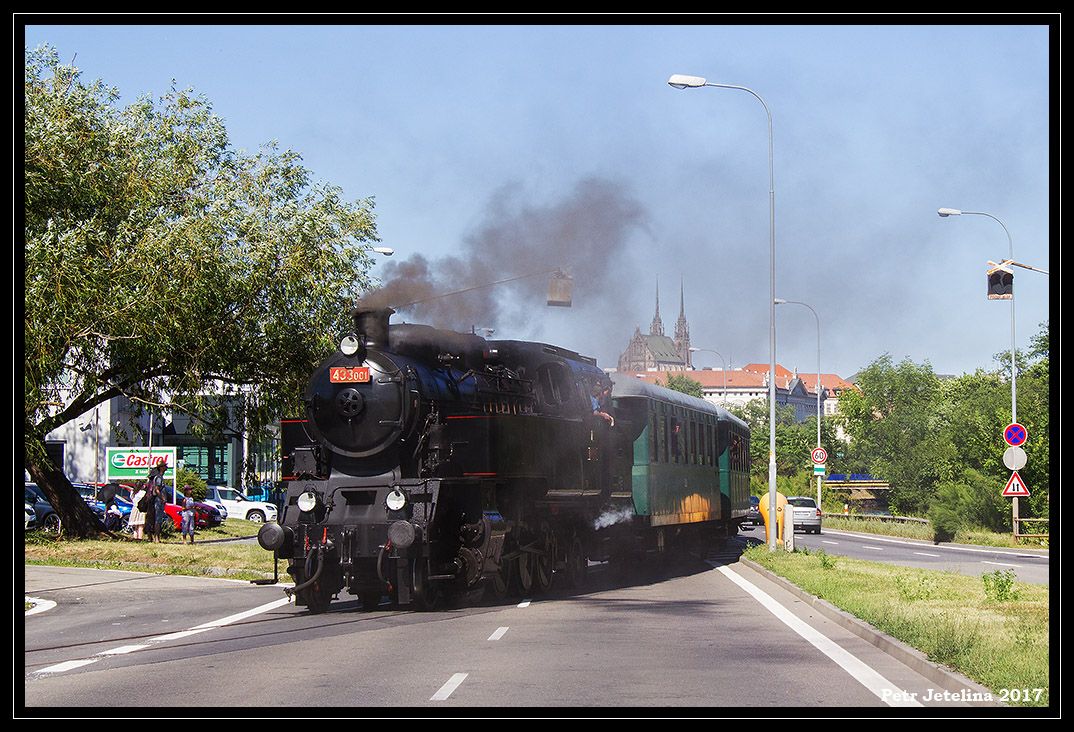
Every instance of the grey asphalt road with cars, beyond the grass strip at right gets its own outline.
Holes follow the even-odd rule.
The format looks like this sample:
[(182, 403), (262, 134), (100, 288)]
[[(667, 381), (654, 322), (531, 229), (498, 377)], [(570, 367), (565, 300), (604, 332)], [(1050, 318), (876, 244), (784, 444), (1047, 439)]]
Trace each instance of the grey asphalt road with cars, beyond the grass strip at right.
[[(745, 537), (765, 541), (765, 527), (757, 526)], [(890, 562), (938, 571), (979, 576), (996, 571), (1014, 570), (1019, 582), (1048, 584), (1049, 561), (1046, 552), (1004, 550), (968, 544), (933, 544), (927, 541), (881, 537), (871, 533), (822, 529), (822, 533), (795, 532), (795, 545), (823, 548), (856, 559)]]

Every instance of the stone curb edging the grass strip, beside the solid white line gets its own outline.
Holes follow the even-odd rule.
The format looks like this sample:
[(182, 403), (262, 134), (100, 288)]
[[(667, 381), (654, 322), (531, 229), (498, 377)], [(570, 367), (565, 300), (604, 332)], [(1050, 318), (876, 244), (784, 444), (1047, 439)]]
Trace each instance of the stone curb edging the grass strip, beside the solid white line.
[[(815, 595), (810, 595), (803, 590), (798, 585), (792, 583), (785, 577), (781, 577), (771, 570), (761, 567), (752, 559), (740, 558), (740, 562), (754, 570), (758, 574), (767, 577), (768, 580), (774, 582), (780, 587), (783, 587), (788, 592), (797, 597), (798, 599), (806, 602), (811, 607), (815, 609), (818, 613), (832, 620), (837, 625), (846, 630), (851, 631), (863, 641), (871, 643), (876, 646), (888, 656), (898, 659), (901, 663), (914, 670), (921, 676), (925, 676), (930, 682), (935, 682), (944, 689), (953, 692), (960, 692), (964, 689), (968, 696), (971, 698), (991, 698), (992, 701), (967, 701), (971, 706), (1005, 706), (1005, 704), (996, 701), (996, 694), (992, 693), (991, 689), (982, 686), (977, 682), (963, 676), (962, 674), (942, 667), (933, 661), (930, 661), (928, 657), (923, 654), (917, 648), (906, 645), (902, 641), (888, 635), (885, 632), (873, 628), (871, 625), (857, 618), (850, 613), (840, 610), (836, 605), (831, 604), (827, 600), (822, 600)], [(986, 696), (987, 694), (987, 696)]]

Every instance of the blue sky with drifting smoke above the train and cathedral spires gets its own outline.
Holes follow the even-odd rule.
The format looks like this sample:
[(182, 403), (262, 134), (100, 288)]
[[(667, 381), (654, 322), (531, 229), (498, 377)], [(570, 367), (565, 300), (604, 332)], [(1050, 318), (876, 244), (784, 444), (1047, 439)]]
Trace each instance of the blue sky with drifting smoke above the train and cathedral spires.
[[(212, 102), (235, 148), (278, 141), (315, 179), (373, 196), (382, 244), (396, 250), (374, 270), (381, 278), (416, 255), (447, 290), (550, 265), (575, 277), (569, 309), (545, 307), (537, 290), (547, 281), (533, 278), (484, 291), (468, 312), (449, 307), (454, 296), (395, 321), (495, 327), (497, 338), (614, 366), (635, 327), (649, 331), (657, 279), (673, 328), (682, 281), (695, 346), (736, 366), (767, 363), (764, 109), (741, 91), (672, 89), (674, 73), (749, 87), (772, 112), (777, 295), (816, 309), (822, 370), (847, 377), (890, 353), (962, 374), (993, 368), (993, 354), (1010, 349), (1010, 305), (985, 296), (986, 261), (1007, 255), (1006, 235), (987, 217), (940, 218), (940, 207), (996, 216), (1016, 261), (1058, 270), (1049, 16), (833, 26), (808, 16), (690, 26), (82, 19), (31, 24), (26, 44), (53, 45), (86, 80), (117, 87), (122, 103), (159, 97), (174, 79)], [(722, 19), (736, 16), (705, 18)], [(1019, 348), (1048, 318), (1049, 279), (1016, 270)], [(815, 370), (804, 308), (777, 309), (777, 360)]]

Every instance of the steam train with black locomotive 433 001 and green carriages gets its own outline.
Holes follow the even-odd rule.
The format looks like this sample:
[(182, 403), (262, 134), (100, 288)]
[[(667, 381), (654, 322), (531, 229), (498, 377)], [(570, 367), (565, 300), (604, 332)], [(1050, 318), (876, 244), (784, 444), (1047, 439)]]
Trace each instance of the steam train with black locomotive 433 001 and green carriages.
[(750, 431), (726, 410), (563, 348), (392, 313), (354, 310), (305, 418), (281, 425), (285, 506), (258, 540), (310, 612), (344, 589), (429, 610), (581, 587), (591, 559), (745, 521)]

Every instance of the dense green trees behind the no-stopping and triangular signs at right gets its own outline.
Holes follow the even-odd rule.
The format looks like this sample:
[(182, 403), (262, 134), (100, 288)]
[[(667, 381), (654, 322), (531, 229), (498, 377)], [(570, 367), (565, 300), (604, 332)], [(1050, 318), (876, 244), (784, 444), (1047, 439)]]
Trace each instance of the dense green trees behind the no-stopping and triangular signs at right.
[[(1010, 357), (1010, 356), (1008, 356)], [(1018, 422), (1029, 431), (1030, 486), (1022, 516), (1047, 516), (1049, 491), (1048, 327), (1032, 339), (1017, 381)], [(1016, 363), (1018, 360), (1016, 358)], [(978, 369), (940, 380), (926, 363), (894, 364), (884, 355), (863, 369), (860, 391), (839, 401), (850, 436), (851, 469), (891, 483), (891, 508), (934, 515), (953, 512), (976, 526), (1011, 530), (1011, 499), (1000, 496), (1011, 470), (1003, 464), (1003, 428), (1011, 422), (1007, 368)]]

